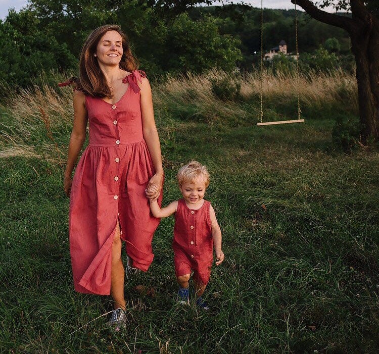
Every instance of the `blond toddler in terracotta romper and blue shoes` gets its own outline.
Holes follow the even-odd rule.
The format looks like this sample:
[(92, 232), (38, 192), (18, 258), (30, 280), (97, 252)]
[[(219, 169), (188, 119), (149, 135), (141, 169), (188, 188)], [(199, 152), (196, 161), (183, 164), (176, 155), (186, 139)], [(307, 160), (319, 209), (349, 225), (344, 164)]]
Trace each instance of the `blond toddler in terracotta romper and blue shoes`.
[[(209, 185), (209, 173), (205, 166), (192, 161), (183, 166), (177, 179), (183, 198), (160, 208), (157, 201), (150, 199), (150, 209), (156, 218), (165, 218), (175, 213), (174, 250), (175, 275), (179, 283), (178, 300), (181, 304), (189, 301), (189, 278), (194, 272), (196, 305), (208, 310), (202, 299), (209, 281), (213, 262), (213, 245), (216, 252), (216, 266), (224, 260), (221, 250), (221, 230), (215, 212), (204, 199)], [(157, 190), (152, 184), (146, 194), (151, 196)]]

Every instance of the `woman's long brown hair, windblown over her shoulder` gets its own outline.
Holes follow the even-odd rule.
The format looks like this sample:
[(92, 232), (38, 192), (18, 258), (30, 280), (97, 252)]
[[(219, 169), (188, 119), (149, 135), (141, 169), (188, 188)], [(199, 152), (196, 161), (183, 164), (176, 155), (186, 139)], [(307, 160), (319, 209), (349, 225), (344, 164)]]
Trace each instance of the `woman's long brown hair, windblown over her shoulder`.
[(123, 55), (120, 61), (120, 68), (126, 71), (137, 69), (137, 59), (131, 54), (129, 42), (126, 34), (122, 32), (118, 25), (104, 25), (93, 30), (83, 44), (79, 59), (79, 79), (71, 78), (69, 81), (76, 83), (76, 89), (85, 94), (98, 97), (112, 98), (112, 91), (107, 85), (107, 81), (100, 69), (96, 54), (96, 49), (100, 39), (108, 31), (117, 31), (122, 38)]

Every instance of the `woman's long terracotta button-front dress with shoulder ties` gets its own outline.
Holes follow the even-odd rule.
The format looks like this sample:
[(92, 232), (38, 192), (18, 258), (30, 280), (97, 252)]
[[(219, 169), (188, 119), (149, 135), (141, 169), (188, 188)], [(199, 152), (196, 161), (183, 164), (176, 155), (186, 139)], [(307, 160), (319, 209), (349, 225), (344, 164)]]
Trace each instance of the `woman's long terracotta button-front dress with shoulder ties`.
[[(87, 95), (89, 144), (72, 181), (69, 237), (75, 290), (107, 295), (111, 288), (112, 242), (117, 219), (133, 267), (147, 271), (160, 219), (150, 213), (145, 188), (154, 166), (144, 140), (140, 88), (146, 77), (123, 79), (125, 94), (114, 105)], [(162, 193), (158, 199), (162, 200)]]

